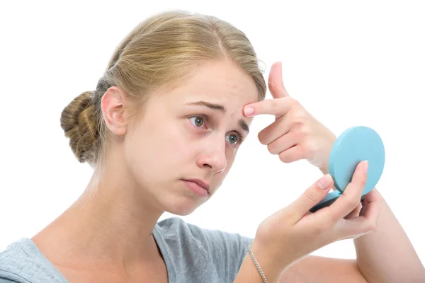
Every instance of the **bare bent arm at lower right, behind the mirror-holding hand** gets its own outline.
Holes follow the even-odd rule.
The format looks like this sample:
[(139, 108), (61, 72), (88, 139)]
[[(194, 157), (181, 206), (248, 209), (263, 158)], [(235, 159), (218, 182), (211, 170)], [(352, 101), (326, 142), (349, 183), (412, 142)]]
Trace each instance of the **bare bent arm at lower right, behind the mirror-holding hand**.
[(357, 260), (308, 256), (288, 267), (280, 283), (425, 282), (425, 269), (390, 207), (381, 202), (377, 229), (354, 239)]

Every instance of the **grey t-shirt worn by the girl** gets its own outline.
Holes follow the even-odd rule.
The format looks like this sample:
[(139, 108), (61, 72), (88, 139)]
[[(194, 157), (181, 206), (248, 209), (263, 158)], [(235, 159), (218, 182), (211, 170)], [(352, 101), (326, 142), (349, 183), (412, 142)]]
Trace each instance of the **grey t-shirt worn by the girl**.
[[(159, 221), (153, 236), (165, 261), (169, 283), (233, 282), (252, 238), (201, 229), (179, 217)], [(69, 283), (30, 238), (0, 253), (0, 283)]]

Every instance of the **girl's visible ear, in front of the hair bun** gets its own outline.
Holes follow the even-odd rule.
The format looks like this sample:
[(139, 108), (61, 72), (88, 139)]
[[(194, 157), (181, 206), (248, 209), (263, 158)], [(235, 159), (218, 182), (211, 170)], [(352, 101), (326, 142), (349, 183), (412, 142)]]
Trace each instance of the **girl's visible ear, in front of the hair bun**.
[(127, 132), (123, 108), (124, 99), (125, 93), (118, 86), (108, 88), (102, 97), (102, 112), (106, 125), (111, 132), (118, 135), (124, 135)]

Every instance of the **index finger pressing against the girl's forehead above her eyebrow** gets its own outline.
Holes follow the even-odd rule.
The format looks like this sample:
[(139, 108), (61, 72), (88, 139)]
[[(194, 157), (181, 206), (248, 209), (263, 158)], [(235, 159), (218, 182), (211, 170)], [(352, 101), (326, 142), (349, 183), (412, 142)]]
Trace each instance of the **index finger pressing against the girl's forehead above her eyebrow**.
[(244, 106), (244, 115), (246, 117), (268, 114), (275, 115), (276, 118), (285, 115), (291, 108), (290, 97), (272, 98), (261, 100)]

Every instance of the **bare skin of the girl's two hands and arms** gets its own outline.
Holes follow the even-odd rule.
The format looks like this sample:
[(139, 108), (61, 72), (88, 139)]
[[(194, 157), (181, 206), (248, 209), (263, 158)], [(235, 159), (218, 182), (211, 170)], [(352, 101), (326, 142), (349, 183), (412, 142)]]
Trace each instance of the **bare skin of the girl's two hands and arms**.
[[(245, 115), (268, 114), (276, 117), (275, 122), (259, 133), (261, 144), (267, 145), (268, 151), (278, 154), (280, 160), (285, 163), (306, 159), (327, 175), (327, 159), (336, 137), (289, 96), (283, 86), (279, 62), (271, 67), (268, 88), (273, 96), (272, 100), (253, 103), (244, 108)], [(253, 108), (249, 114), (246, 112), (247, 108)], [(361, 164), (358, 166), (363, 167)], [(269, 282), (275, 282), (275, 279), (277, 281), (278, 277), (279, 282), (292, 283), (424, 282), (424, 265), (378, 190), (374, 188), (365, 195), (365, 200), (358, 204), (359, 193), (363, 191), (365, 183), (365, 175), (361, 172), (362, 170), (356, 171), (351, 184), (348, 185), (351, 189), (347, 188), (343, 196), (330, 207), (320, 209), (314, 214), (307, 212), (307, 207), (317, 204), (330, 188), (322, 190), (316, 183), (293, 204), (263, 221), (257, 235), (266, 234), (266, 241), (262, 241), (262, 244), (261, 241), (254, 241), (252, 249), (264, 269), (268, 269)], [(307, 213), (304, 215), (304, 212)], [(295, 225), (285, 226), (290, 224), (296, 215), (304, 216)], [(297, 218), (295, 217), (295, 220)], [(312, 219), (314, 220), (306, 226)], [(274, 221), (277, 221), (278, 225), (273, 225)], [(282, 226), (285, 226), (285, 229), (281, 229)], [(273, 229), (275, 227), (279, 227), (280, 232)], [(267, 233), (268, 229), (272, 229), (273, 233)], [(297, 238), (308, 238), (314, 234), (314, 239), (305, 239), (299, 245), (296, 244)], [(288, 241), (292, 236), (293, 240)], [(314, 250), (314, 245), (320, 239), (324, 242), (319, 243), (319, 246), (324, 246), (339, 238), (353, 238), (356, 260), (302, 256), (306, 255), (306, 248)], [(256, 236), (255, 240), (259, 239), (261, 236)], [(271, 247), (269, 251), (267, 246)], [(281, 264), (276, 263), (279, 260)], [(246, 256), (242, 263), (235, 282), (262, 282), (249, 256)]]

